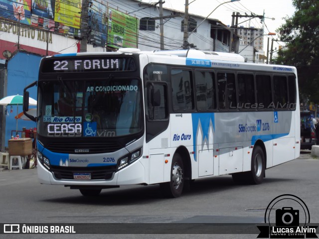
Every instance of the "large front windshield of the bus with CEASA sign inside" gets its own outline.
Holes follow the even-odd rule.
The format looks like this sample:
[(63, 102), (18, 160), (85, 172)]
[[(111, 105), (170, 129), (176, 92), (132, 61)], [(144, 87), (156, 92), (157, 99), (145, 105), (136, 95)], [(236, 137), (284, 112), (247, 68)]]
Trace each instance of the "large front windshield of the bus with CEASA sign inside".
[(38, 133), (113, 137), (142, 130), (138, 79), (39, 82)]

